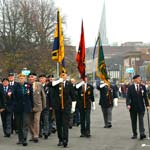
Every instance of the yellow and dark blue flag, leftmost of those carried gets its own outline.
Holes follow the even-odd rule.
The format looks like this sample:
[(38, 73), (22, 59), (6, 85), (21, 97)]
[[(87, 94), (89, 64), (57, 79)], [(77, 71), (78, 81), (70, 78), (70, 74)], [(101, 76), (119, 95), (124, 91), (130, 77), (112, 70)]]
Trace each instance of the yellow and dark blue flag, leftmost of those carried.
[(52, 49), (52, 60), (62, 63), (64, 59), (64, 37), (62, 30), (62, 18), (59, 10), (57, 12), (57, 24), (54, 33), (54, 44)]

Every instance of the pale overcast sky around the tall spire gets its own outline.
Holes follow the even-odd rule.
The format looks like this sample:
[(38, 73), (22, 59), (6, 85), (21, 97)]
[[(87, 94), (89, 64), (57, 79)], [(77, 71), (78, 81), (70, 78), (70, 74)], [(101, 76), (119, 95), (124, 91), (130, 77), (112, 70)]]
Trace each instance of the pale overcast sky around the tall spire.
[[(79, 45), (81, 20), (86, 47), (94, 46), (104, 0), (55, 0), (67, 17), (64, 29), (72, 44)], [(150, 0), (105, 0), (109, 43), (150, 42)]]

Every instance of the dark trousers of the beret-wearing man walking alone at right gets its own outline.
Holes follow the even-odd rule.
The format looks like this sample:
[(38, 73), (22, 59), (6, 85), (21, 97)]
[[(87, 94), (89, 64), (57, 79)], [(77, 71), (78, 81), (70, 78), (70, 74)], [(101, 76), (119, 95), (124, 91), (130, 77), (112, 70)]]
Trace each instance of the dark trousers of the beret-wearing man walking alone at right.
[(139, 119), (139, 133), (140, 133), (140, 135), (145, 134), (144, 113), (145, 112), (130, 111), (133, 135), (137, 135), (137, 116), (138, 116), (138, 119)]

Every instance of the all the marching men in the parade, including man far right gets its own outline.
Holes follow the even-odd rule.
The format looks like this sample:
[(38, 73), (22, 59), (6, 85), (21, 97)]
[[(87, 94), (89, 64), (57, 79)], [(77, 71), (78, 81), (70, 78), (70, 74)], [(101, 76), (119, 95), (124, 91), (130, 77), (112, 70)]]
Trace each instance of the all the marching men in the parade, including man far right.
[[(111, 82), (101, 81), (96, 85), (99, 91), (104, 128), (112, 128), (112, 110), (117, 106), (119, 87)], [(138, 89), (137, 86), (138, 85)], [(121, 88), (121, 87), (120, 87)], [(57, 146), (67, 147), (69, 128), (80, 125), (80, 137), (91, 137), (91, 110), (95, 110), (94, 87), (84, 80), (76, 82), (68, 79), (67, 72), (60, 77), (53, 75), (28, 76), (19, 74), (17, 80), (9, 73), (0, 83), (0, 113), (4, 137), (18, 135), (17, 144), (28, 145), (29, 141), (38, 143), (39, 138), (48, 137), (57, 132)], [(139, 118), (140, 139), (146, 138), (144, 129), (145, 106), (149, 110), (150, 86), (141, 83), (140, 75), (133, 77), (133, 84), (128, 85), (126, 93), (127, 108), (130, 112), (133, 136), (137, 138), (137, 116)], [(145, 100), (145, 102), (143, 101)], [(145, 106), (144, 106), (145, 105)]]

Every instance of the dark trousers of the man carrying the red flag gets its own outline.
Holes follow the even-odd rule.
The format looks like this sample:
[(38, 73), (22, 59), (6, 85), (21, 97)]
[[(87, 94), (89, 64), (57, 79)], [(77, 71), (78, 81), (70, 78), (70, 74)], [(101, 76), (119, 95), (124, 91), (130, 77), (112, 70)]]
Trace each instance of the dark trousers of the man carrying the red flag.
[(90, 109), (80, 109), (81, 134), (90, 134)]

